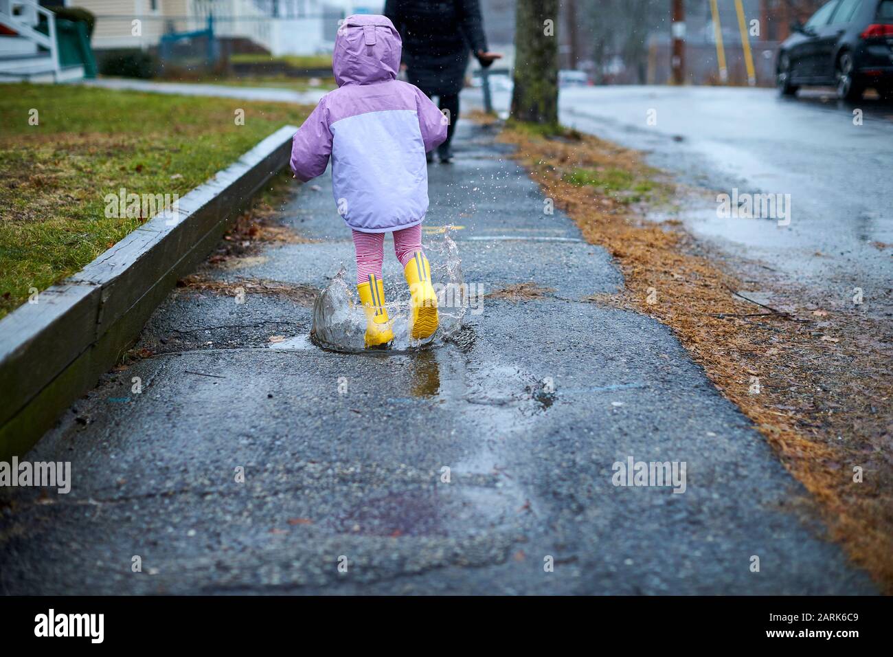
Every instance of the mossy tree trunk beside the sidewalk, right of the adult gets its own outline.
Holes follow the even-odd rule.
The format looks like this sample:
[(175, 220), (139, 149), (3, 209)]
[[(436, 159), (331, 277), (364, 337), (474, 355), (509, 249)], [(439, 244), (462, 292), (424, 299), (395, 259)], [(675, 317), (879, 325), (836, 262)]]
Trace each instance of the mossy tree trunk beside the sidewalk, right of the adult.
[(512, 118), (558, 124), (558, 0), (518, 0)]

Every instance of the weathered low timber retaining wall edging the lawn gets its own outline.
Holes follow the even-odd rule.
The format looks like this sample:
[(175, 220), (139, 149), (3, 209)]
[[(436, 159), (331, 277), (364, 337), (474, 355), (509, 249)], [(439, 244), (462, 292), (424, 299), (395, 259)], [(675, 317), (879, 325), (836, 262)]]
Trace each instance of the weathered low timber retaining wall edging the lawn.
[(137, 338), (177, 279), (286, 164), (287, 125), (78, 274), (0, 320), (0, 460), (21, 456)]

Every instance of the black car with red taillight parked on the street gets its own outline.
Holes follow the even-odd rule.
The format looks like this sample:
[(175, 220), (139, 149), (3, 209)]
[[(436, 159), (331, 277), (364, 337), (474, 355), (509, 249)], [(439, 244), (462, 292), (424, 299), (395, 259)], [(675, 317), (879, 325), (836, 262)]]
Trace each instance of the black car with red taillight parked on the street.
[(874, 88), (893, 100), (893, 0), (830, 0), (781, 44), (778, 87), (793, 96), (805, 85), (834, 85), (857, 100)]

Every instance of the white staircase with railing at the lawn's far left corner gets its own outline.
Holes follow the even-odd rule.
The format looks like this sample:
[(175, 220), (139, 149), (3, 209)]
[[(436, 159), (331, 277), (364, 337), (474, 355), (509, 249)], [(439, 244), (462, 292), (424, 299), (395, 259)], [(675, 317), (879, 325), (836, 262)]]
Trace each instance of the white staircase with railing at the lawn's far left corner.
[[(37, 29), (46, 21), (48, 34)], [(83, 66), (62, 66), (55, 14), (31, 0), (0, 0), (0, 25), (18, 36), (0, 36), (0, 82), (62, 82), (84, 77)]]

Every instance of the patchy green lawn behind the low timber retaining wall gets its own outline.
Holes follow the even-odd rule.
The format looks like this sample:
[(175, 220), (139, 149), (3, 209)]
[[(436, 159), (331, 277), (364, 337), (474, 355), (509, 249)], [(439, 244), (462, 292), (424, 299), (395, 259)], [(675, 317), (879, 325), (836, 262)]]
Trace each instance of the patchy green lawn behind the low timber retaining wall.
[[(0, 95), (0, 317), (74, 274), (148, 217), (106, 217), (104, 197), (179, 194), (312, 108), (67, 85)], [(39, 123), (29, 125), (29, 111)], [(245, 110), (245, 125), (235, 111)]]

